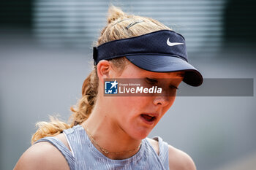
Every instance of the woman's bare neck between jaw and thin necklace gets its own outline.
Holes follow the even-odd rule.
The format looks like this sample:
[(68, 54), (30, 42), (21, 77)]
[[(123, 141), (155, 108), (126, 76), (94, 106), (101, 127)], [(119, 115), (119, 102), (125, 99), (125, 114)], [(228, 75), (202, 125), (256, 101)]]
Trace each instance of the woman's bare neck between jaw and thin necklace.
[[(118, 123), (113, 122), (106, 110), (94, 107), (88, 120), (81, 125), (90, 136), (92, 144), (110, 159), (124, 159), (135, 155), (139, 150), (141, 140), (132, 139)], [(108, 150), (109, 153), (104, 152)]]

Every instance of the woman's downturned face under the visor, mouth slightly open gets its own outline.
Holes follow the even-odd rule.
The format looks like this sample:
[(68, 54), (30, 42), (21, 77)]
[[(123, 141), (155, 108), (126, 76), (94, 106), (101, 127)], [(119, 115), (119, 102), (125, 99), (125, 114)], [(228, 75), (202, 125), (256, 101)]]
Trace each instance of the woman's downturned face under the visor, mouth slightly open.
[(166, 94), (176, 93), (183, 77), (184, 72), (148, 72), (129, 63), (121, 74), (113, 74), (113, 78), (145, 80), (146, 83), (162, 87), (162, 95), (108, 97), (108, 105), (112, 108), (110, 116), (121, 131), (133, 139), (144, 139), (172, 106), (176, 96)]

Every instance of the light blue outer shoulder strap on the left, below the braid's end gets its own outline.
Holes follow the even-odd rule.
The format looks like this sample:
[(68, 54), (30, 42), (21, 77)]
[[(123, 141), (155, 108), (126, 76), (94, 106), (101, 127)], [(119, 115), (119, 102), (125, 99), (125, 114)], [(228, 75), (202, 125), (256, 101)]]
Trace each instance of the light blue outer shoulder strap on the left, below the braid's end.
[(62, 155), (64, 155), (64, 158), (66, 158), (67, 163), (69, 164), (69, 169), (75, 170), (75, 158), (73, 157), (70, 150), (65, 146), (65, 144), (61, 142), (60, 139), (53, 136), (48, 136), (39, 139), (37, 142), (34, 142), (34, 144), (39, 142), (49, 142), (50, 144), (53, 144), (53, 146), (56, 147), (62, 153)]

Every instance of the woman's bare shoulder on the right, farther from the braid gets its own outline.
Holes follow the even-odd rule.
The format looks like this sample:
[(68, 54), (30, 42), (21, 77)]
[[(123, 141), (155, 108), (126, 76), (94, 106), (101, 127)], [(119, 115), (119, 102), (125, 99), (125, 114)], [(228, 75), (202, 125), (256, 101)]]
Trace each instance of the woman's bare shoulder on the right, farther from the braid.
[(187, 153), (168, 145), (170, 170), (196, 170), (195, 163)]

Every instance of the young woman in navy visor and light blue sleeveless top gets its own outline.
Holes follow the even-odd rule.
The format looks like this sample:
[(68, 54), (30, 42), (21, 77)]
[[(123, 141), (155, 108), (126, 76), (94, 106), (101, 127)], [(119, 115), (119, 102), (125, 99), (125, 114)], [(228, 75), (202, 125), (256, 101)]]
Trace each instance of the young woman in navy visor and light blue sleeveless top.
[[(105, 96), (107, 78), (139, 79), (162, 87), (157, 96)], [(165, 80), (165, 81), (163, 81)], [(195, 170), (185, 152), (147, 138), (173, 104), (181, 81), (203, 77), (187, 61), (184, 37), (151, 18), (110, 7), (94, 47), (94, 70), (83, 82), (70, 124), (39, 123), (15, 170)], [(113, 85), (114, 86), (114, 85)]]

